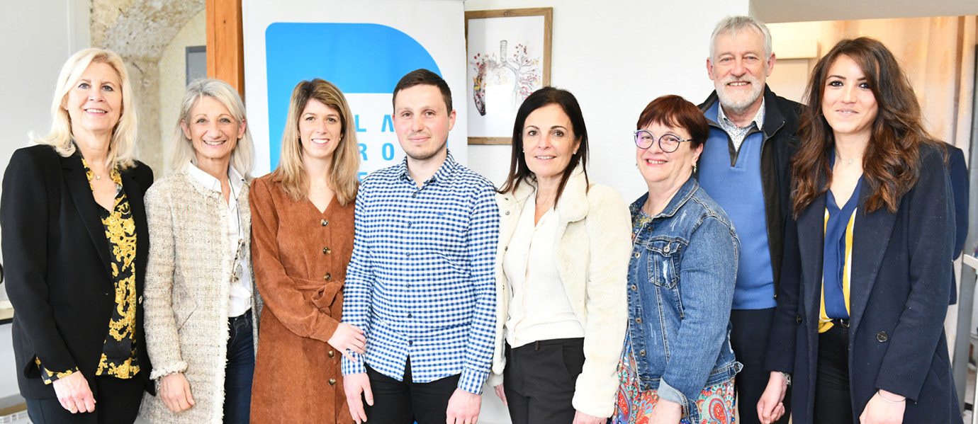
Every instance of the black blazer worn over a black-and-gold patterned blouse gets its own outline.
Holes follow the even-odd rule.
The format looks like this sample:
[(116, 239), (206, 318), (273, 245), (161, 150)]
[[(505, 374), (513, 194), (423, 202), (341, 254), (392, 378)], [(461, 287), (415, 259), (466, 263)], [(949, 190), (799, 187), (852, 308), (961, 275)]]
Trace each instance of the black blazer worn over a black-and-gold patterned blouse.
[[(150, 167), (122, 172), (122, 187), (136, 224), (136, 340), (139, 378), (152, 369), (143, 338), (143, 281), (149, 231), (143, 193), (153, 184)], [(49, 146), (14, 152), (0, 196), (2, 251), (7, 293), (14, 305), (14, 357), (26, 399), (51, 399), (34, 363), (51, 370), (78, 367), (97, 393), (94, 379), (115, 307), (109, 242), (80, 153), (62, 157)]]

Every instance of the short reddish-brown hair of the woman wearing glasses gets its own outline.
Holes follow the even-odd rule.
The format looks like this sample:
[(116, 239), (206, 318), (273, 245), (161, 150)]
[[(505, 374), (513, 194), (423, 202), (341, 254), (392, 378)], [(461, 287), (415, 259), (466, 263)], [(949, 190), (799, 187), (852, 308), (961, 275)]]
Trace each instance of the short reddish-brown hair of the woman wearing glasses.
[[(693, 149), (706, 143), (706, 138), (710, 135), (710, 124), (706, 122), (703, 111), (676, 95), (662, 96), (649, 102), (639, 115), (639, 122), (635, 124), (635, 129), (641, 130), (651, 124), (689, 131), (689, 137), (692, 138), (689, 146)], [(657, 136), (662, 137), (661, 134)]]

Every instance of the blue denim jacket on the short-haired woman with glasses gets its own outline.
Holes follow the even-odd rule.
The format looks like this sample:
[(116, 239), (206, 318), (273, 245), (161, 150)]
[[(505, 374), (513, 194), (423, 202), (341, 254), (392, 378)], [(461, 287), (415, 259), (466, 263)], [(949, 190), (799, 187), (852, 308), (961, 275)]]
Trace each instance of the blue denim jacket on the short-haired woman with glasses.
[[(631, 205), (633, 219), (648, 193)], [(628, 270), (628, 331), (640, 389), (699, 422), (704, 388), (733, 379), (730, 314), (740, 241), (716, 202), (689, 180), (636, 234)]]

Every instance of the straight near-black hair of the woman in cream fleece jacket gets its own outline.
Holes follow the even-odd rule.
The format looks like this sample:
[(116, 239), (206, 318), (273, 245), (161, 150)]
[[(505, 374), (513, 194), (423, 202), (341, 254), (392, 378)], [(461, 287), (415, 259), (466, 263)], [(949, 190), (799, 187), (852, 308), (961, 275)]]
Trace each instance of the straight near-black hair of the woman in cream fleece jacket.
[[(580, 143), (577, 151), (570, 156), (570, 162), (563, 170), (560, 177), (560, 185), (556, 188), (554, 206), (560, 200), (563, 187), (567, 185), (570, 174), (574, 173), (577, 164), (581, 164), (584, 170), (584, 181), (588, 182), (588, 128), (584, 125), (584, 114), (581, 106), (577, 104), (577, 99), (567, 90), (560, 90), (554, 87), (544, 87), (530, 94), (523, 104), (516, 111), (516, 121), (512, 124), (512, 153), (510, 159), (510, 175), (506, 178), (506, 183), (499, 189), (505, 193), (515, 191), (520, 184), (529, 181), (536, 181), (537, 177), (526, 165), (526, 157), (523, 156), (523, 125), (526, 124), (526, 117), (534, 110), (548, 105), (560, 106), (563, 112), (570, 118), (570, 131), (574, 133), (574, 140)], [(587, 186), (591, 186), (588, 182)]]

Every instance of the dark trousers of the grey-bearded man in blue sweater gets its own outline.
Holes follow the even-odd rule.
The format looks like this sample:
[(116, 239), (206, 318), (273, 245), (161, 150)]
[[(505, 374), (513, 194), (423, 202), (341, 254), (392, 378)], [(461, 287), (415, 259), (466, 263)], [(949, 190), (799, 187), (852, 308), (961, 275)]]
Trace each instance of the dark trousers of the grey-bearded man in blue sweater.
[[(768, 335), (775, 319), (775, 308), (735, 309), (731, 311), (731, 347), (743, 369), (736, 374), (733, 385), (737, 394), (737, 410), (740, 424), (760, 424), (757, 403), (768, 387), (771, 371), (765, 366), (768, 351)], [(777, 424), (787, 424), (791, 416), (791, 388), (784, 394), (784, 415)]]

